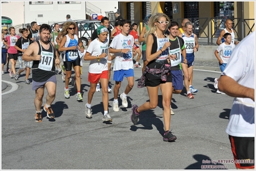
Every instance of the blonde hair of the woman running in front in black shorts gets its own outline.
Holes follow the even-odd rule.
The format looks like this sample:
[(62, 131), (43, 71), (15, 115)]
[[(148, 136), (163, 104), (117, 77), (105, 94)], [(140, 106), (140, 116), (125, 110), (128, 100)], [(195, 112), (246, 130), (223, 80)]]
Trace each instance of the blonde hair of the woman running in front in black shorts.
[[(157, 30), (157, 26), (155, 26), (155, 22), (157, 22), (161, 17), (165, 17), (166, 20), (169, 21), (169, 24), (171, 23), (171, 20), (165, 13), (154, 13), (153, 15), (151, 15), (151, 17), (149, 18), (149, 24), (148, 24), (149, 30), (146, 31), (145, 33), (145, 42), (147, 42), (148, 35), (151, 33), (154, 33)], [(166, 26), (166, 30), (168, 29), (168, 26)], [(166, 32), (166, 30), (164, 32)]]

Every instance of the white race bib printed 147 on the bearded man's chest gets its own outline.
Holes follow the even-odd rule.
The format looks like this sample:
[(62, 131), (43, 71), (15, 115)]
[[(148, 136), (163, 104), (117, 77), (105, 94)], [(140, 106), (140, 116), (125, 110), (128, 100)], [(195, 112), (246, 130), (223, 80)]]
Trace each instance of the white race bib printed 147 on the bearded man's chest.
[(53, 68), (53, 53), (44, 52), (41, 53), (41, 60), (39, 61), (38, 69), (51, 70)]

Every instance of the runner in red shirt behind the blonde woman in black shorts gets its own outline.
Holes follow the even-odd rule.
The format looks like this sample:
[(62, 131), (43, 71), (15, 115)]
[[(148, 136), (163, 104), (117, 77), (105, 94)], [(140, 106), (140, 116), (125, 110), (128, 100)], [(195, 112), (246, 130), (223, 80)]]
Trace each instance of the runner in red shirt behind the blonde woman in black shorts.
[(138, 28), (138, 24), (133, 23), (132, 31), (130, 31), (130, 35), (132, 35), (134, 38), (133, 48), (135, 49), (135, 55), (138, 54), (136, 63), (135, 63), (135, 67), (141, 68), (141, 65), (139, 64), (139, 60), (141, 59), (141, 49), (139, 47), (140, 43), (139, 43), (139, 36), (138, 36), (137, 28)]

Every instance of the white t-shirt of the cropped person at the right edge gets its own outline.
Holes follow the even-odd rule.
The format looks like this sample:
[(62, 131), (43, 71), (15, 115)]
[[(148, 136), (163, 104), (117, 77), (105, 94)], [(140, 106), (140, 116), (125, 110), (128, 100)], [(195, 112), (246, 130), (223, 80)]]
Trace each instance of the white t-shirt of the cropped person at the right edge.
[[(239, 85), (255, 89), (255, 31), (234, 49), (222, 75), (232, 77)], [(255, 102), (235, 98), (226, 133), (238, 137), (255, 136)]]

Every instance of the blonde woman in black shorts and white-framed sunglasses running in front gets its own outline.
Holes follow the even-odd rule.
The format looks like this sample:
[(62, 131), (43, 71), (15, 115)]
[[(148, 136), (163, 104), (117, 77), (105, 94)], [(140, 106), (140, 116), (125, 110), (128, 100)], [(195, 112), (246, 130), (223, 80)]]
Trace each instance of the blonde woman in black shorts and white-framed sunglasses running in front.
[(169, 55), (168, 47), (171, 45), (169, 38), (164, 33), (170, 22), (164, 13), (155, 13), (149, 19), (149, 31), (146, 32), (146, 60), (148, 64), (138, 82), (138, 87), (148, 89), (149, 101), (141, 106), (133, 104), (132, 122), (137, 124), (142, 111), (157, 108), (158, 89), (162, 92), (162, 106), (164, 107), (164, 138), (165, 142), (176, 140), (176, 136), (169, 131), (171, 124), (171, 94), (173, 87), (170, 60), (175, 56)]

